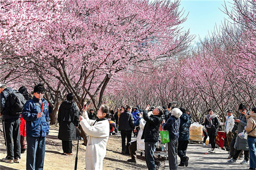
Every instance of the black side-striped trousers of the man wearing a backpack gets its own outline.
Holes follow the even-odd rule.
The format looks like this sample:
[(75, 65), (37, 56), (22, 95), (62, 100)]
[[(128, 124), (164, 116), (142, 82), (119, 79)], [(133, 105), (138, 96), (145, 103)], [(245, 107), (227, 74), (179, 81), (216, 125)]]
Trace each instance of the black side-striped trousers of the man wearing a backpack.
[(11, 118), (3, 120), (4, 144), (7, 150), (6, 159), (13, 160), (21, 158), (21, 134), (20, 118)]

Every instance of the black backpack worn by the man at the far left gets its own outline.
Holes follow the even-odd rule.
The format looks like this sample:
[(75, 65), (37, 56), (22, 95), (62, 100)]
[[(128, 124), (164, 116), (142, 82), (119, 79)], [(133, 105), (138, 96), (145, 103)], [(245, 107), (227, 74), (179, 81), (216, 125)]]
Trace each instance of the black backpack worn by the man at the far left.
[(5, 101), (5, 107), (8, 110), (8, 114), (19, 115), (22, 113), (22, 109), (26, 100), (24, 96), (17, 90), (13, 90)]

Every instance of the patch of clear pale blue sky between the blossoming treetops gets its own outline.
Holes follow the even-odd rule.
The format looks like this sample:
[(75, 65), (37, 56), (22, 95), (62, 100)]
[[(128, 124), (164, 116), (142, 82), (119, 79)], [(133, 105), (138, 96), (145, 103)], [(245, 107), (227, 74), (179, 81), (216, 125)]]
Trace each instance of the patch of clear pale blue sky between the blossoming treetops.
[[(227, 6), (231, 6), (230, 2), (225, 1)], [(190, 34), (195, 34), (195, 42), (199, 41), (199, 36), (201, 39), (204, 39), (205, 36), (208, 35), (208, 31), (211, 34), (211, 31), (214, 30), (214, 27), (219, 28), (221, 25), (221, 21), (224, 21), (224, 18), (228, 18), (226, 14), (224, 14), (221, 10), (224, 10), (224, 0), (181, 0), (179, 10), (184, 8), (185, 14), (188, 18), (185, 23), (182, 24), (185, 30), (190, 29)], [(220, 10), (220, 9), (221, 10)], [(228, 7), (230, 8), (230, 7)]]

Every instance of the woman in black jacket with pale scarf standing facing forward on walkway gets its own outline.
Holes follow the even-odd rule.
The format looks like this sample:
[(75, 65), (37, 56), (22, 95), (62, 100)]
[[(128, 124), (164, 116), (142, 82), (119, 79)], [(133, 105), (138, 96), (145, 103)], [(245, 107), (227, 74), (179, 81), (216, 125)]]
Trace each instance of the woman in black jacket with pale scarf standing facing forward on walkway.
[(207, 111), (207, 115), (205, 117), (205, 127), (207, 130), (207, 134), (209, 136), (209, 143), (211, 144), (212, 149), (208, 152), (215, 153), (216, 149), (216, 141), (215, 138), (217, 136), (218, 127), (220, 125), (218, 116), (213, 113), (213, 109), (209, 108)]

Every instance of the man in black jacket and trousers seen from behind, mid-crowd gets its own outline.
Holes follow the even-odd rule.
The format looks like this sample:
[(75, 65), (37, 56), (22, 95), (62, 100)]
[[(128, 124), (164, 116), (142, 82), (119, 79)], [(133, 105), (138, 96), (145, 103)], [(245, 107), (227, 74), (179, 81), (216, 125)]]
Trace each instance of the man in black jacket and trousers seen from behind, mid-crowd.
[[(119, 117), (119, 126), (118, 126), (118, 129), (121, 133), (121, 138), (122, 138), (121, 154), (127, 154), (127, 155), (130, 155), (130, 152), (129, 152), (130, 143), (129, 142), (132, 139), (132, 129), (134, 129), (134, 127), (133, 127), (134, 120), (132, 118), (131, 111), (132, 111), (132, 107), (127, 106), (126, 111), (124, 111)], [(127, 144), (125, 144), (126, 137), (127, 137)]]

